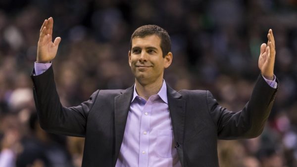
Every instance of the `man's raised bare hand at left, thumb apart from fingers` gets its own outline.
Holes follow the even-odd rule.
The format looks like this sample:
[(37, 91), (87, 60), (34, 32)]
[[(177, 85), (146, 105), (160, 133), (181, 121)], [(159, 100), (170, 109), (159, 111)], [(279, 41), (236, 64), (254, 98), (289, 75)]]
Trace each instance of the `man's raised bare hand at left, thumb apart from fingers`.
[(61, 38), (55, 38), (52, 42), (53, 19), (49, 17), (41, 26), (37, 47), (37, 63), (49, 63), (57, 54)]

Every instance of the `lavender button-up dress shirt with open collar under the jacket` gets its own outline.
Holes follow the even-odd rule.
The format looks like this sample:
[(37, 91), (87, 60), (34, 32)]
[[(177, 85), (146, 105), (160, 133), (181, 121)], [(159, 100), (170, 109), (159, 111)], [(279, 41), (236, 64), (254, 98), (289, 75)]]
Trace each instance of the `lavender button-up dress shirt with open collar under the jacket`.
[(165, 81), (148, 101), (134, 86), (116, 167), (182, 167), (174, 143)]

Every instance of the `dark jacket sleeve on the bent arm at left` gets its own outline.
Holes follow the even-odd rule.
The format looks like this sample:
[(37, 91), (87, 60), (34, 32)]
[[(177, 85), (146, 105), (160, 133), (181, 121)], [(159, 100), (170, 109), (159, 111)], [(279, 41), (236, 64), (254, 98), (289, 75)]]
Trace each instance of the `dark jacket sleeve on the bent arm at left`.
[(54, 82), (53, 70), (50, 67), (41, 75), (33, 76), (33, 93), (35, 106), (41, 127), (52, 133), (84, 137), (88, 113), (92, 109), (99, 90), (95, 91), (88, 101), (76, 107), (63, 107)]

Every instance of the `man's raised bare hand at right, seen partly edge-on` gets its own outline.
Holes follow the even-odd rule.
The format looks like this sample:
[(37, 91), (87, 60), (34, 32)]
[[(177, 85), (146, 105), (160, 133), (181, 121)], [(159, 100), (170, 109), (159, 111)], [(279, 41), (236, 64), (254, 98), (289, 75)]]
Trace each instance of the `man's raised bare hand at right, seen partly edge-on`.
[(262, 43), (260, 47), (260, 56), (258, 61), (259, 69), (263, 77), (268, 80), (273, 80), (273, 68), (275, 61), (275, 42), (272, 34), (272, 30), (269, 29), (268, 42)]

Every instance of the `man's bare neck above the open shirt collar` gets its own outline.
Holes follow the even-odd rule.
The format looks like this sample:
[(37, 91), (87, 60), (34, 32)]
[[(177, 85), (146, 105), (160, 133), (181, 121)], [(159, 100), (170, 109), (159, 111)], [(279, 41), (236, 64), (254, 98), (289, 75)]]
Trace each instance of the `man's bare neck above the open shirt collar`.
[(140, 83), (135, 80), (137, 94), (146, 100), (148, 100), (151, 95), (157, 94), (160, 91), (162, 84), (163, 79), (148, 84)]

